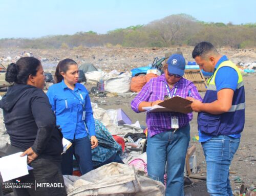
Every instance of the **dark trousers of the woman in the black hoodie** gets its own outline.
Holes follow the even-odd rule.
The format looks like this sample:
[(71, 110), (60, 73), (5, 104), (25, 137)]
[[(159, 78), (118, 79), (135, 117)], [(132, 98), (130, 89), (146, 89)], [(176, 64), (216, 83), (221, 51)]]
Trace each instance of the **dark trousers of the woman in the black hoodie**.
[[(67, 195), (60, 163), (61, 156), (38, 156), (38, 158), (30, 164), (34, 169), (29, 170), (28, 175), (17, 178), (20, 180), (20, 184), (31, 183), (31, 188), (15, 188), (13, 189), (14, 195)], [(16, 183), (17, 179), (14, 179), (13, 183)], [(58, 187), (56, 187), (56, 185), (58, 185)]]

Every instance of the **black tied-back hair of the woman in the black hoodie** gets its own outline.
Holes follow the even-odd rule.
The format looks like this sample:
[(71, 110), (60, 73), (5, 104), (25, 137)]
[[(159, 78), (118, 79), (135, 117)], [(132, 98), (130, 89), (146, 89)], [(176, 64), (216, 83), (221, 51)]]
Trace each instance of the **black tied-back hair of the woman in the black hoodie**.
[(35, 76), (41, 65), (40, 60), (34, 57), (22, 57), (16, 63), (9, 64), (5, 80), (9, 83), (27, 84), (29, 75)]

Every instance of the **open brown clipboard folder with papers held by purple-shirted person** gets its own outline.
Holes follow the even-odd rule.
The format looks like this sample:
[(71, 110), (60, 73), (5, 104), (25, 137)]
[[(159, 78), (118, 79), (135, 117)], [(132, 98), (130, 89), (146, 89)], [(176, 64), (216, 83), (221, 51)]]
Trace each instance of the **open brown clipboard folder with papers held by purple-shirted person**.
[(159, 103), (158, 105), (154, 105), (152, 107), (143, 107), (146, 110), (146, 113), (149, 112), (179, 112), (183, 114), (187, 114), (189, 112), (193, 112), (191, 107), (185, 107), (188, 104), (192, 103), (187, 99), (184, 99), (179, 96), (175, 96), (166, 101)]

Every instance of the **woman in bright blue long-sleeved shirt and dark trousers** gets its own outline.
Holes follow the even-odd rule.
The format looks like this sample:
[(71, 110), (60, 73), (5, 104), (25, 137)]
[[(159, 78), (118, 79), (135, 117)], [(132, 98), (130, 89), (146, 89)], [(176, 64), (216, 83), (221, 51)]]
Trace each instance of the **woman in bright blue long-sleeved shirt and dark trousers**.
[(98, 145), (89, 93), (84, 85), (77, 83), (78, 66), (72, 59), (66, 58), (58, 63), (55, 80), (56, 84), (50, 86), (47, 95), (63, 137), (72, 143), (62, 155), (62, 174), (72, 175), (74, 155), (84, 175), (93, 169), (91, 149)]

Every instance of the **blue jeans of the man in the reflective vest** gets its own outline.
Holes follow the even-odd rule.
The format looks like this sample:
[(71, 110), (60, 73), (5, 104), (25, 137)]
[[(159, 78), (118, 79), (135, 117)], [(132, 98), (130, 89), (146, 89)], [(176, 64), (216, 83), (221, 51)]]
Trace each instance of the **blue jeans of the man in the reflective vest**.
[(215, 136), (202, 142), (207, 164), (207, 190), (211, 196), (233, 195), (229, 182), (229, 166), (240, 138)]

